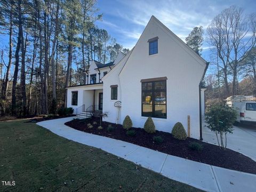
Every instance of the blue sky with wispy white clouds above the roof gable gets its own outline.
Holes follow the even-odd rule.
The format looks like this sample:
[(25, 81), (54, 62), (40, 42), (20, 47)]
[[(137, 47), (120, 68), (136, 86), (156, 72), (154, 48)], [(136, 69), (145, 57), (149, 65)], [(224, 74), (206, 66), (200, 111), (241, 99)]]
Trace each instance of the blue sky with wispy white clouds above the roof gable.
[[(215, 15), (231, 5), (242, 7), (244, 12), (255, 12), (256, 0), (204, 1), (204, 0), (99, 0), (97, 7), (103, 13), (99, 28), (104, 28), (124, 47), (131, 49), (138, 41), (151, 15), (164, 23), (185, 41), (195, 26), (207, 28)], [(209, 60), (209, 46), (203, 44), (202, 57)]]

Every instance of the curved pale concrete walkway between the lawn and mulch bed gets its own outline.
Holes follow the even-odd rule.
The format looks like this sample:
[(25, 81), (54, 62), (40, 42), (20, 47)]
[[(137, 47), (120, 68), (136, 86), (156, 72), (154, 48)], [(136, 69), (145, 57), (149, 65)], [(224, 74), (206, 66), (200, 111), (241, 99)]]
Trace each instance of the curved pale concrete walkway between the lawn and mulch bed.
[(73, 117), (37, 123), (61, 137), (100, 148), (167, 178), (206, 191), (256, 191), (256, 175), (167, 155), (132, 143), (77, 131), (64, 125)]

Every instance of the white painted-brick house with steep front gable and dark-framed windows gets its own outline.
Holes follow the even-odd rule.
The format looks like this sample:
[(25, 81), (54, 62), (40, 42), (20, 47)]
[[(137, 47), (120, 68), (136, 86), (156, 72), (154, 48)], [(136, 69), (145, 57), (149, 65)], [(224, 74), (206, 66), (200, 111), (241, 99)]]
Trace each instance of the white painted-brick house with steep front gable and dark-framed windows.
[[(67, 106), (81, 113), (90, 105), (100, 105), (103, 93), (102, 111), (108, 112), (104, 121), (122, 124), (129, 115), (134, 127), (143, 127), (150, 116), (157, 130), (171, 132), (177, 122), (187, 129), (189, 115), (190, 137), (199, 139), (201, 83), (208, 63), (154, 16), (133, 49), (118, 57), (111, 70), (100, 76), (103, 83), (96, 79), (95, 84), (67, 87)], [(77, 106), (71, 105), (74, 100)], [(121, 108), (114, 106), (116, 101), (122, 102)]]

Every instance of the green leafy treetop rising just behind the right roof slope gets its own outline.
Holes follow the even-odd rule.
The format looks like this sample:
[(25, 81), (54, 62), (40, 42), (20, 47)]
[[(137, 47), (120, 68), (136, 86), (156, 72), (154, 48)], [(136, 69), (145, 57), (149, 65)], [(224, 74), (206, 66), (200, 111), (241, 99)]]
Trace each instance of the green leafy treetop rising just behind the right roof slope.
[(193, 49), (198, 55), (201, 55), (200, 52), (202, 51), (202, 44), (204, 41), (204, 30), (202, 26), (194, 27), (194, 29), (190, 32), (190, 34), (186, 37), (186, 43)]

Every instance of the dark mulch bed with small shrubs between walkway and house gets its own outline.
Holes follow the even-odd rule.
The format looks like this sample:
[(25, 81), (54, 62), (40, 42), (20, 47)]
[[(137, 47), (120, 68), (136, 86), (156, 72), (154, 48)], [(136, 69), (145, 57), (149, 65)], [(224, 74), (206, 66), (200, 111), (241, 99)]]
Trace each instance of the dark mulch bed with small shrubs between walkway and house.
[[(93, 124), (93, 122), (97, 124)], [(91, 123), (93, 128), (87, 128), (86, 124)], [(114, 131), (108, 132), (108, 125), (115, 127)], [(256, 174), (256, 162), (251, 158), (246, 157), (236, 151), (226, 149), (221, 150), (219, 146), (212, 145), (210, 143), (202, 142), (193, 138), (187, 138), (186, 140), (177, 140), (172, 137), (171, 133), (156, 131), (156, 133), (150, 134), (141, 128), (132, 127), (130, 130), (136, 131), (134, 137), (126, 135), (126, 130), (122, 125), (116, 125), (113, 123), (102, 122), (102, 130), (99, 130), (99, 118), (94, 119), (74, 119), (73, 121), (65, 123), (65, 125), (73, 127), (76, 130), (84, 131), (87, 133), (97, 134), (104, 137), (114, 138), (136, 145), (161, 151), (166, 154), (190, 159), (192, 161), (206, 163), (209, 165), (219, 166), (226, 169), (242, 171), (247, 173)], [(163, 142), (156, 144), (153, 142), (154, 136), (161, 136)], [(198, 142), (203, 146), (201, 151), (191, 150), (188, 145), (190, 142)]]

